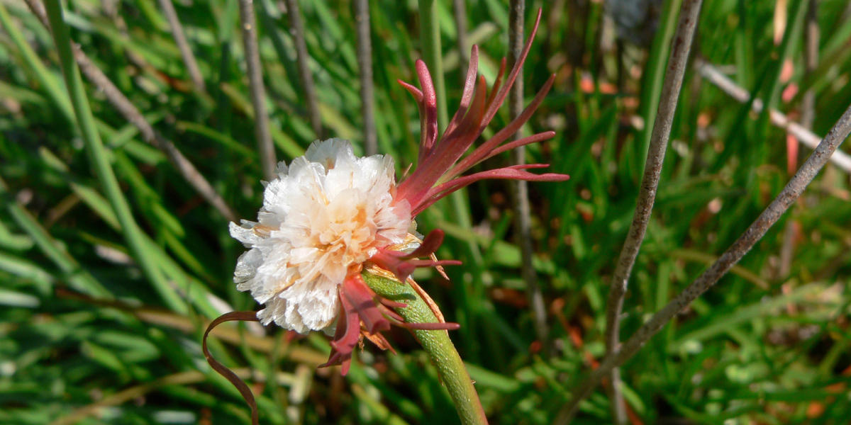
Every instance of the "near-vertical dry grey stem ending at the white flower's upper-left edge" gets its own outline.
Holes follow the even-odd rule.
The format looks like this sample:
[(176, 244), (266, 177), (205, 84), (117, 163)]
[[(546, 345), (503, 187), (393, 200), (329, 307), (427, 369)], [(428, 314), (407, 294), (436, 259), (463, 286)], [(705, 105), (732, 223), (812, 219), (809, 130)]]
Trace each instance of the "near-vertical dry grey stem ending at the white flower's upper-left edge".
[(254, 134), (260, 152), (260, 167), (263, 169), (263, 177), (271, 180), (275, 178), (277, 160), (266, 113), (266, 88), (263, 87), (263, 70), (260, 68), (253, 0), (239, 0), (239, 20), (243, 26), (243, 48), (248, 65), (248, 86), (251, 90), (251, 105), (254, 107)]

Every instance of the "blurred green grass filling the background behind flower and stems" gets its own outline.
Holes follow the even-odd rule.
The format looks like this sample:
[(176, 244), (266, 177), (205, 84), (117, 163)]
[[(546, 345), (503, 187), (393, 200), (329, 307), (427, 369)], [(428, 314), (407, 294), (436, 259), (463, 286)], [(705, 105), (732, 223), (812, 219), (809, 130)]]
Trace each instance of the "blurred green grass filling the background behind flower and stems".
[[(241, 217), (254, 219), (262, 185), (237, 1), (174, 2), (208, 93), (191, 90), (157, 2), (118, 2), (121, 20), (104, 3), (68, 2), (71, 40)], [(452, 112), (461, 89), (456, 29), (451, 3), (436, 3)], [(527, 28), (539, 3), (528, 2)], [(668, 22), (669, 3), (680, 2), (665, 2), (660, 27)], [(693, 56), (722, 65), (734, 81), (791, 116), (800, 116), (802, 93), (814, 90), (814, 132), (823, 135), (851, 103), (847, 2), (819, 2), (822, 60), (812, 75), (803, 72), (806, 22), (797, 23), (806, 2), (788, 2), (779, 45), (773, 40), (773, 3), (707, 0)], [(361, 149), (353, 7), (300, 4), (325, 131)], [(288, 20), (277, 5), (260, 0), (255, 8), (272, 137), (278, 158), (289, 161), (315, 134)], [(401, 174), (416, 157), (419, 140), (417, 108), (396, 83), (414, 82), (414, 60), (422, 57), (417, 2), (372, 6), (378, 141)], [(505, 54), (507, 2), (466, 6), (468, 32), (491, 82)], [(531, 99), (550, 73), (557, 74), (529, 124), (538, 131), (553, 128), (557, 136), (530, 147), (528, 159), (571, 175), (563, 184), (530, 184), (551, 357), (535, 349), (508, 186), (471, 186), (461, 201), (471, 212), (472, 229), (459, 224), (457, 206), (448, 201), (419, 220), (421, 231), (446, 230), (441, 258), (465, 263), (448, 268), (451, 284), (427, 271), (416, 277), (447, 320), (461, 324), (451, 337), (492, 423), (550, 423), (590, 370), (589, 358), (603, 355), (608, 282), (635, 205), (668, 54), (660, 40), (603, 51), (600, 3), (568, 0), (563, 10), (545, 7), (524, 82)], [(89, 103), (91, 120), (78, 126), (59, 50), (26, 8), (0, 4), (0, 26), (0, 422), (50, 423), (96, 407), (78, 423), (248, 423), (248, 406), (210, 371), (200, 347), (206, 321), (231, 309), (257, 308), (232, 283), (243, 247), (227, 234), (226, 219), (88, 81), (76, 100)], [(620, 86), (613, 65), (619, 55), (625, 70)], [(794, 65), (788, 82), (780, 78), (784, 59)], [(594, 89), (583, 90), (584, 79), (597, 83)], [(602, 89), (603, 82), (616, 92)], [(797, 94), (782, 99), (790, 84)], [(785, 133), (747, 111), (689, 67), (626, 298), (624, 339), (699, 275), (785, 184)], [(633, 125), (636, 118), (643, 127)], [(492, 128), (506, 122), (507, 111), (500, 111)], [(87, 154), (93, 150), (97, 161)], [(847, 173), (829, 166), (742, 260), (742, 269), (622, 367), (625, 398), (643, 423), (846, 421), (848, 184)], [(791, 274), (781, 278), (787, 220), (800, 234)], [(367, 344), (341, 378), (334, 369), (316, 369), (327, 357), (327, 337), (288, 343), (280, 329), (271, 327), (265, 337), (246, 329), (221, 326), (211, 350), (248, 378), (262, 423), (459, 421), (436, 368), (403, 331), (389, 336), (398, 354)], [(576, 422), (609, 421), (608, 398), (598, 389)]]

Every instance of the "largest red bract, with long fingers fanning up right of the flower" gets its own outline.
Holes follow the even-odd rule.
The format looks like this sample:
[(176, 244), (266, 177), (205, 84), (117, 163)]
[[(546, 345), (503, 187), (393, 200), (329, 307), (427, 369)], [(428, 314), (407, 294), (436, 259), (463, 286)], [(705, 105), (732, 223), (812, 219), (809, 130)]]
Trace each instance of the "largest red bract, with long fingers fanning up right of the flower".
[(540, 10), (535, 20), (532, 33), (529, 36), (523, 52), (517, 58), (517, 63), (511, 69), (505, 84), (502, 78), (505, 75), (505, 58), (500, 65), (494, 86), (488, 94), (488, 87), (484, 77), (477, 77), (478, 71), (478, 47), (473, 46), (470, 59), (470, 68), (467, 70), (464, 91), (458, 111), (448, 123), (443, 137), (437, 139), (437, 96), (434, 85), (431, 82), (431, 74), (426, 68), (425, 62), (417, 60), (416, 71), (420, 80), (421, 90), (400, 81), (399, 83), (408, 92), (414, 95), (417, 105), (420, 107), (420, 155), (417, 159), (417, 167), (414, 173), (405, 178), (398, 185), (396, 201), (408, 201), (411, 213), (416, 216), (426, 207), (431, 206), (437, 200), (443, 198), (455, 190), (486, 178), (507, 178), (528, 181), (563, 181), (569, 178), (565, 174), (544, 173), (534, 174), (526, 171), (531, 168), (548, 167), (547, 164), (529, 164), (496, 168), (481, 173), (473, 173), (469, 176), (459, 177), (462, 173), (476, 166), (478, 163), (498, 155), (506, 150), (517, 148), (525, 144), (533, 144), (542, 140), (551, 139), (555, 136), (552, 131), (536, 133), (523, 139), (517, 139), (505, 144), (512, 134), (517, 133), (520, 127), (528, 121), (532, 113), (544, 100), (544, 96), (552, 87), (555, 75), (552, 75), (540, 89), (523, 112), (517, 118), (502, 128), (493, 137), (479, 145), (469, 155), (465, 152), (478, 139), (488, 123), (494, 119), (496, 111), (500, 109), (509, 89), (514, 84), (520, 73), (520, 68), (526, 60), (529, 48), (532, 46), (535, 32), (540, 22)]

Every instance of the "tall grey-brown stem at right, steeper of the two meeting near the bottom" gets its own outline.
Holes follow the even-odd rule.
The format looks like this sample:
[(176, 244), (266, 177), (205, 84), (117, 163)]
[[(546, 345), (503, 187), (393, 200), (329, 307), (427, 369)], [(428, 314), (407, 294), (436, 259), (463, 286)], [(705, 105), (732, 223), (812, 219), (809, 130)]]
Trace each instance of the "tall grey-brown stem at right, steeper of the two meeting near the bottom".
[[(650, 222), (650, 213), (656, 200), (656, 190), (662, 173), (662, 163), (665, 161), (665, 149), (671, 137), (671, 122), (677, 111), (677, 99), (680, 88), (683, 87), (688, 53), (691, 50), (694, 28), (697, 27), (700, 5), (702, 0), (685, 0), (677, 20), (677, 30), (674, 32), (671, 55), (665, 70), (665, 82), (659, 99), (659, 112), (650, 136), (650, 147), (644, 165), (644, 175), (641, 188), (638, 190), (638, 200), (635, 215), (632, 217), (630, 229), (626, 234), (624, 247), (620, 251), (618, 263), (612, 276), (612, 286), (608, 292), (606, 304), (606, 353), (611, 354), (620, 344), (620, 312), (624, 306), (627, 282), (630, 279), (632, 266), (641, 248), (644, 234)], [(622, 394), (620, 394), (620, 371), (613, 368), (609, 378), (612, 382), (610, 389), (614, 422), (626, 422), (626, 412)]]

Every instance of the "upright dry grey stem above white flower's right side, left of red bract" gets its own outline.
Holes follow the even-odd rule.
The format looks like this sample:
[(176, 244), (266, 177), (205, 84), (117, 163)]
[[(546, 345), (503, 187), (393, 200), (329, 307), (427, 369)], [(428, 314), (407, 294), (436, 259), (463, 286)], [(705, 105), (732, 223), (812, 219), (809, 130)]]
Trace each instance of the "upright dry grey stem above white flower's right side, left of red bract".
[(374, 96), (372, 80), (372, 40), (369, 36), (369, 2), (355, 1), (357, 26), (357, 65), (361, 68), (361, 102), (363, 107), (363, 146), (367, 155), (378, 153), (375, 136)]

